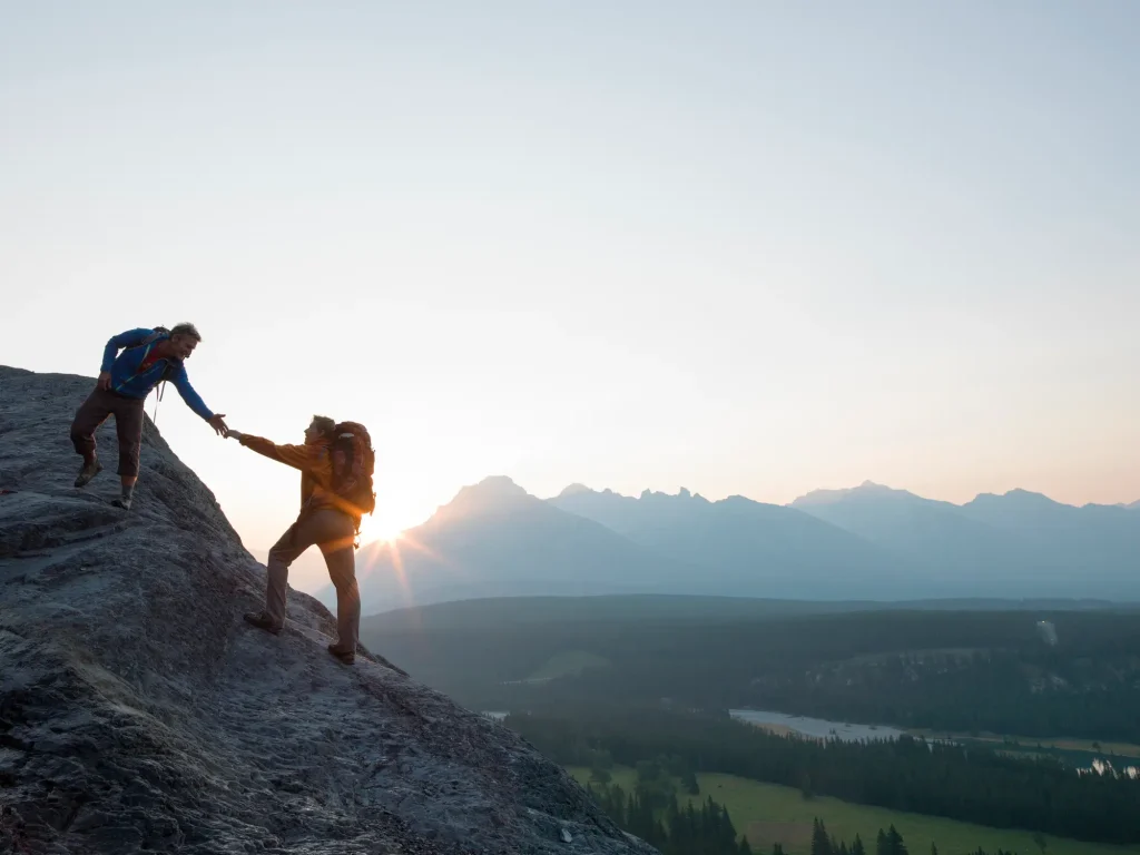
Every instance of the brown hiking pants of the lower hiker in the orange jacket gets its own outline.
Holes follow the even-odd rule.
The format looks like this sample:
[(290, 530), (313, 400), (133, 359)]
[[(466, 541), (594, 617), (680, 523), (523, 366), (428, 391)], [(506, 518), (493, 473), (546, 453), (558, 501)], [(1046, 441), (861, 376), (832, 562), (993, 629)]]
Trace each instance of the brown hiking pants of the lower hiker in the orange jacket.
[(340, 511), (323, 508), (302, 514), (269, 551), (269, 583), (266, 589), (266, 612), (274, 624), (285, 622), (285, 596), (288, 591), (288, 567), (310, 546), (319, 546), (336, 588), (337, 645), (356, 652), (360, 635), (360, 589), (356, 583), (356, 526)]

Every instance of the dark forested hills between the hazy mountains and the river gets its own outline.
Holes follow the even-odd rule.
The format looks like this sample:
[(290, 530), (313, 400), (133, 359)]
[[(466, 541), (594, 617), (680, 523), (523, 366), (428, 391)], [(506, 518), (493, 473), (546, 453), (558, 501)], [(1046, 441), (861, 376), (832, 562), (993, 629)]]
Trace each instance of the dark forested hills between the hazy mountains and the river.
[[(1037, 626), (1057, 629), (1051, 644)], [(1140, 616), (869, 611), (719, 621), (630, 620), (437, 630), (385, 640), (418, 677), (479, 709), (523, 709), (511, 684), (581, 650), (610, 665), (542, 702), (756, 707), (832, 720), (1140, 743)]]

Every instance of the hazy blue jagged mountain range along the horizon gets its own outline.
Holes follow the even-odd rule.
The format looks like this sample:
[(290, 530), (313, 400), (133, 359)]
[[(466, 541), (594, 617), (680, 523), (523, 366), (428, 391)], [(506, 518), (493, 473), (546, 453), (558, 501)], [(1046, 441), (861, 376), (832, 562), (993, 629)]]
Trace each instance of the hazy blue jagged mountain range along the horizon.
[(871, 482), (790, 505), (581, 484), (540, 499), (492, 477), (398, 540), (365, 546), (357, 567), (366, 614), (478, 597), (645, 593), (1132, 601), (1140, 503), (1075, 507), (1011, 490), (954, 505)]

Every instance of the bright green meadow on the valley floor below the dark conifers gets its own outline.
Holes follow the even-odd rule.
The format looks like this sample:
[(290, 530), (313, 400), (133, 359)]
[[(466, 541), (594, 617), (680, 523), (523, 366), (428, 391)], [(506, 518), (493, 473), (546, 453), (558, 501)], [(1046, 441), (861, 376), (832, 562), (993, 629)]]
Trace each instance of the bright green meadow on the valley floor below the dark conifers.
[[(587, 768), (571, 767), (569, 772), (583, 785), (589, 780)], [(627, 792), (633, 790), (633, 769), (617, 767), (611, 774), (613, 783), (620, 784)], [(837, 839), (849, 844), (857, 833), (872, 850), (879, 829), (894, 824), (912, 853), (930, 852), (931, 842), (944, 855), (975, 852), (979, 846), (986, 852), (1002, 848), (1011, 849), (1018, 855), (1036, 855), (1041, 852), (1029, 831), (993, 829), (940, 816), (854, 805), (820, 796), (808, 800), (797, 789), (734, 775), (699, 773), (697, 781), (700, 795), (685, 796), (678, 790), (677, 800), (684, 805), (686, 799), (691, 799), (699, 805), (711, 796), (714, 801), (725, 806), (736, 831), (748, 837), (756, 855), (767, 855), (775, 842), (782, 844), (788, 855), (808, 855), (812, 821), (815, 817), (823, 821), (828, 831)], [(1140, 846), (1109, 846), (1050, 836), (1045, 836), (1044, 840), (1049, 855), (1140, 855)]]

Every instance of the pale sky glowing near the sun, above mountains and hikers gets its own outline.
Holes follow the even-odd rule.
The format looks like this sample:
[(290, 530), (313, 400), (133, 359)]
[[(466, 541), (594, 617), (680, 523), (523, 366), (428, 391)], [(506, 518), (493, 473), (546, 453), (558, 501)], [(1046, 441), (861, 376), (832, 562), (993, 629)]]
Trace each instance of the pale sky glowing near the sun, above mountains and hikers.
[[(1140, 499), (1140, 5), (0, 22), (0, 364), (192, 320), (230, 426), (370, 429), (367, 535), (492, 474)], [(295, 473), (172, 390), (158, 427), (270, 546)]]

